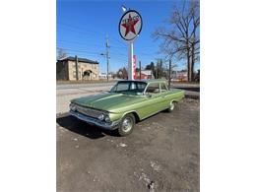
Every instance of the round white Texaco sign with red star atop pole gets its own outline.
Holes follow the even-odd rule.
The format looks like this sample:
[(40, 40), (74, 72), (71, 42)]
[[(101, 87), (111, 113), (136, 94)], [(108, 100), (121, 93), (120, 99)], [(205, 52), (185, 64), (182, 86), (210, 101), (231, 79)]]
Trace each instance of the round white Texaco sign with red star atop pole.
[(125, 40), (133, 40), (142, 30), (142, 17), (134, 10), (127, 11), (119, 22), (119, 33)]

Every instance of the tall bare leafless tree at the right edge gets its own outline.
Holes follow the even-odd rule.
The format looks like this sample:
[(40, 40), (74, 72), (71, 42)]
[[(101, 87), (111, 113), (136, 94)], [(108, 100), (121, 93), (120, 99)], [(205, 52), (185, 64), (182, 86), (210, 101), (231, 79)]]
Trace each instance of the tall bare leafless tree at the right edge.
[(194, 64), (200, 54), (199, 1), (183, 1), (181, 8), (174, 7), (167, 21), (170, 30), (159, 28), (154, 32), (156, 39), (163, 39), (160, 51), (170, 57), (175, 55), (187, 61), (188, 81), (194, 80)]

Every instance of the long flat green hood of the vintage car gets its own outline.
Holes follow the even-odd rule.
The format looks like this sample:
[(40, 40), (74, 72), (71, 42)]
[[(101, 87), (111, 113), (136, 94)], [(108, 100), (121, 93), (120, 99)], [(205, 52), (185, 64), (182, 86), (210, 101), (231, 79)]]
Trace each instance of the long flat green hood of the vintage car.
[(96, 96), (85, 96), (72, 99), (71, 102), (109, 112), (120, 112), (121, 108), (144, 100), (144, 96), (131, 96), (117, 93), (106, 93)]

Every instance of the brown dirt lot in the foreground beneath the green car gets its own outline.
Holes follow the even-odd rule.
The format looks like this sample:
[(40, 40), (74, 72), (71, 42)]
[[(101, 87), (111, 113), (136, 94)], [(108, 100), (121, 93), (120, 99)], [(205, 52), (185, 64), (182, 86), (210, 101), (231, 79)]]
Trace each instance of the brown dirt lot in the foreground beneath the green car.
[(199, 104), (184, 99), (128, 137), (57, 118), (57, 191), (199, 191)]

